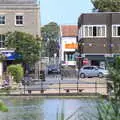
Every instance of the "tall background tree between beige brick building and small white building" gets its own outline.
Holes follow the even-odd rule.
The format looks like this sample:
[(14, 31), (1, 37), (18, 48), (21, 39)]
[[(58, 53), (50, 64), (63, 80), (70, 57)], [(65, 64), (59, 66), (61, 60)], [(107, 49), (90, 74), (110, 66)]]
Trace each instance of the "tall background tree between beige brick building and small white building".
[(58, 40), (60, 37), (60, 28), (55, 22), (41, 28), (41, 36), (44, 44), (44, 53), (46, 56), (53, 57), (54, 53), (58, 53)]

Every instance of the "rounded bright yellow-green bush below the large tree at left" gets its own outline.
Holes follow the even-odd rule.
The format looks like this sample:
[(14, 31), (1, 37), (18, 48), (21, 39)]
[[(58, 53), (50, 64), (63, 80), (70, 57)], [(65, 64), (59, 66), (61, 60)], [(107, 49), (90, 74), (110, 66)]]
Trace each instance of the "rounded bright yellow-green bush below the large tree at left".
[(16, 83), (19, 83), (22, 80), (24, 72), (23, 67), (20, 64), (8, 66), (7, 71), (13, 76), (13, 80)]

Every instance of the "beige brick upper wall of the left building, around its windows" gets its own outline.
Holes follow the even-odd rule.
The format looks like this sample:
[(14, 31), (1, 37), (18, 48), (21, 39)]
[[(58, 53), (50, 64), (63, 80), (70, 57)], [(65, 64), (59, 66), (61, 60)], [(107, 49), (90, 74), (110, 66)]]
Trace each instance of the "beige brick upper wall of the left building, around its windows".
[[(0, 25), (0, 34), (8, 31), (22, 31), (34, 36), (40, 36), (40, 12), (37, 5), (5, 5), (0, 6), (0, 14), (6, 16), (6, 24)], [(24, 25), (15, 25), (15, 16), (20, 14), (24, 16)]]

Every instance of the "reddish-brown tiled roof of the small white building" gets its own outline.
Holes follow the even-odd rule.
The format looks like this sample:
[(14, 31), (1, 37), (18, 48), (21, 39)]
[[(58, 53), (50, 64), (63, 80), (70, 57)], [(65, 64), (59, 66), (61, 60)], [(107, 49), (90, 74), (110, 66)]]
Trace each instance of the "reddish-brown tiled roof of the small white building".
[(64, 37), (76, 37), (77, 36), (77, 26), (76, 25), (62, 25), (61, 33)]

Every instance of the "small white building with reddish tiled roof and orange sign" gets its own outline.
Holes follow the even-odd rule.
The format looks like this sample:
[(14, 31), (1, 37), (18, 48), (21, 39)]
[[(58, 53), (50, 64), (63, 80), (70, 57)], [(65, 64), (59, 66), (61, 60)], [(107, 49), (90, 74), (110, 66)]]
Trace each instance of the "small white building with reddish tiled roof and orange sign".
[(60, 31), (60, 61), (62, 61), (63, 65), (75, 66), (75, 51), (77, 49), (77, 26), (61, 25)]

